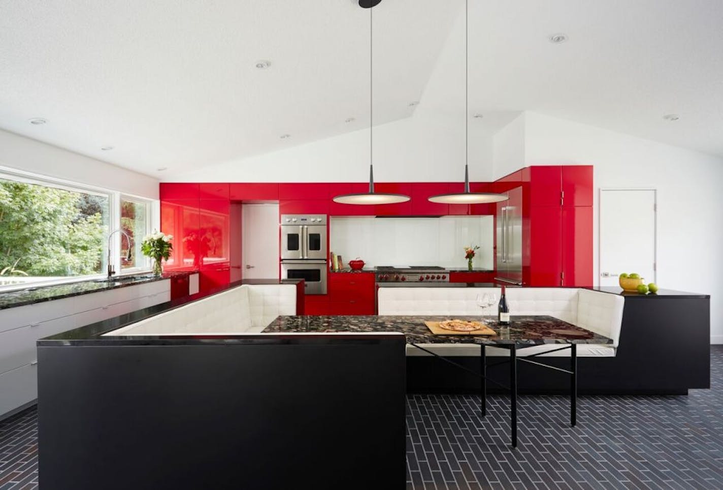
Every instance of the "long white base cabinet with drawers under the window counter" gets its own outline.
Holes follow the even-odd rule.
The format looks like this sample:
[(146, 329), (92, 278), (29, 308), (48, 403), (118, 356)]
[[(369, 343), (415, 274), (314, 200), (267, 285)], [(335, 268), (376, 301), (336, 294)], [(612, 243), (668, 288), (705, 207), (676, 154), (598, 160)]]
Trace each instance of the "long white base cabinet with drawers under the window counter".
[(0, 419), (38, 397), (36, 340), (169, 300), (164, 279), (0, 310)]

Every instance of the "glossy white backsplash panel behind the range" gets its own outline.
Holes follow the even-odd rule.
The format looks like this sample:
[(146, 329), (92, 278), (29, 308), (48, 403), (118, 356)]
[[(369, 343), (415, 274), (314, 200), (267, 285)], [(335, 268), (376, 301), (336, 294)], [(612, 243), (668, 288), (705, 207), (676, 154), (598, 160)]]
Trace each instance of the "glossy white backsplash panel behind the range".
[(331, 217), (330, 250), (346, 265), (354, 258), (374, 266), (466, 268), (464, 248), (479, 245), (476, 269), (494, 269), (493, 216), (441, 218)]

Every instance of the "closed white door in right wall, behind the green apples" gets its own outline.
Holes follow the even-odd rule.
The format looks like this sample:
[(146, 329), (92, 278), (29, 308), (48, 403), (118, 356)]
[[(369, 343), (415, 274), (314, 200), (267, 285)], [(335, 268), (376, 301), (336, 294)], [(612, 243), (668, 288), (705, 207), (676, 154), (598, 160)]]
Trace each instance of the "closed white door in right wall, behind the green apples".
[(617, 286), (623, 272), (655, 282), (655, 213), (655, 190), (600, 190), (601, 286)]

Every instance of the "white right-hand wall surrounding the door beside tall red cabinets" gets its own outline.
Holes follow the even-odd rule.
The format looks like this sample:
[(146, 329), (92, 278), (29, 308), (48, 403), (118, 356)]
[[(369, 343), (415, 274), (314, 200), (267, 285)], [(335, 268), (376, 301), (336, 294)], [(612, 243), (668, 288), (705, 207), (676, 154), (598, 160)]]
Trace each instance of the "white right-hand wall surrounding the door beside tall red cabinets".
[(657, 282), (710, 294), (711, 342), (723, 343), (723, 159), (534, 112), (523, 120), (524, 161), (495, 161), (495, 178), (528, 165), (594, 165), (596, 277), (599, 189), (657, 189)]

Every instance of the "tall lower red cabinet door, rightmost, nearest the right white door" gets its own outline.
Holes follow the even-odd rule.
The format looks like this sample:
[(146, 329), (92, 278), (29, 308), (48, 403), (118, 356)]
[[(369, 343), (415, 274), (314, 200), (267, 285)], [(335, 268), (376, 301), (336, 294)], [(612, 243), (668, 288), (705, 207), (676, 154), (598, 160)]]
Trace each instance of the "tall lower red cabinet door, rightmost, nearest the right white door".
[(593, 285), (593, 208), (562, 208), (562, 285)]

